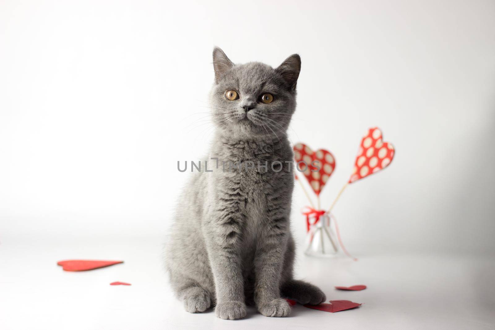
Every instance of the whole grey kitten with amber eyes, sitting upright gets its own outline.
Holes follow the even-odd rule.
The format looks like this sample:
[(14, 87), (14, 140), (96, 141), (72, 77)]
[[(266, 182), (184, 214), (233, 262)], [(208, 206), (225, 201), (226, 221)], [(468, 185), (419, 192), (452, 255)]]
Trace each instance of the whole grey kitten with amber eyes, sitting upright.
[(326, 300), (318, 287), (293, 279), (294, 164), (286, 131), (300, 64), (297, 54), (276, 69), (233, 64), (213, 50), (216, 131), (201, 171), (182, 192), (165, 249), (170, 281), (188, 312), (216, 303), (217, 317), (235, 320), (255, 304), (265, 316), (283, 317), (291, 312), (285, 297)]

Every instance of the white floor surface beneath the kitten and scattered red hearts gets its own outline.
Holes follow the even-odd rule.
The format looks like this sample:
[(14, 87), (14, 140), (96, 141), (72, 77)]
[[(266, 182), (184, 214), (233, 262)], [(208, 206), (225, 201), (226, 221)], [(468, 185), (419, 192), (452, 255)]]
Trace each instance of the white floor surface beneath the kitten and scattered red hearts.
[[(326, 313), (297, 306), (289, 318), (226, 321), (189, 314), (171, 294), (160, 261), (161, 239), (62, 240), (0, 245), (0, 329), (494, 329), (494, 256), (357, 253), (347, 258), (300, 256), (300, 278), (328, 299), (363, 303)], [(89, 272), (64, 272), (58, 260), (124, 260)], [(114, 281), (131, 286), (109, 285)], [(362, 291), (334, 285), (366, 284)]]

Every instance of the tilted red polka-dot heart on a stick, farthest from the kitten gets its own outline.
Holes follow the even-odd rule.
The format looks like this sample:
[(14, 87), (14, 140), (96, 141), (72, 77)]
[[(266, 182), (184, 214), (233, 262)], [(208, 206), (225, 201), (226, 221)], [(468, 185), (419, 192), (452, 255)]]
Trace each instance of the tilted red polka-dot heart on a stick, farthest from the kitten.
[(368, 130), (361, 140), (354, 162), (354, 170), (348, 183), (353, 183), (389, 166), (394, 159), (395, 150), (392, 143), (384, 142), (382, 138), (382, 131), (378, 127)]

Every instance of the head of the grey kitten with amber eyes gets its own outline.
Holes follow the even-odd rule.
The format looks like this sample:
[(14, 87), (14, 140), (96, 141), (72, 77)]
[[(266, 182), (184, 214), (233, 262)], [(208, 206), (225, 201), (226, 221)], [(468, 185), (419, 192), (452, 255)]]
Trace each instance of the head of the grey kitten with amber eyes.
[(215, 84), (211, 91), (213, 122), (239, 138), (285, 135), (296, 109), (299, 55), (277, 68), (259, 62), (234, 64), (213, 49)]

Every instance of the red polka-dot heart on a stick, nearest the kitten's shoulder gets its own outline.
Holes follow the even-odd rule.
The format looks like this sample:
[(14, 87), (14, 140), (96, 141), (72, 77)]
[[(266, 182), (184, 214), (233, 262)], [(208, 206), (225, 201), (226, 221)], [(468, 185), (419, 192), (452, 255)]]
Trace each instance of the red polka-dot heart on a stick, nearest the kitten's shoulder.
[(303, 170), (302, 174), (306, 177), (309, 185), (316, 195), (319, 195), (323, 186), (334, 173), (336, 165), (334, 155), (325, 149), (313, 151), (304, 143), (296, 143), (294, 145), (294, 159), (296, 160), (297, 171)]

